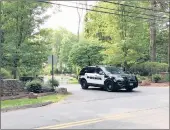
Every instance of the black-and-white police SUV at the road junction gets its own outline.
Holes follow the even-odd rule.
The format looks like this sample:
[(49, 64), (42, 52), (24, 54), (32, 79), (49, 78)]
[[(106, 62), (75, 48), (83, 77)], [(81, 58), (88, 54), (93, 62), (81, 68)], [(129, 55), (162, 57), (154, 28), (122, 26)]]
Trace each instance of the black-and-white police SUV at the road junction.
[(80, 71), (79, 83), (82, 89), (89, 86), (100, 87), (108, 92), (126, 89), (132, 91), (138, 87), (138, 79), (115, 66), (87, 66)]

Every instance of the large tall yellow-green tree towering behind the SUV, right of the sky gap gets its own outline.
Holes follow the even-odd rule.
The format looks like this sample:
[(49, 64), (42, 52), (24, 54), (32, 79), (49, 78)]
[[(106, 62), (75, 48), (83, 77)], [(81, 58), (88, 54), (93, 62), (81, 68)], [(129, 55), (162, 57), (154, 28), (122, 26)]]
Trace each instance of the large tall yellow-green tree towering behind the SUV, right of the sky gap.
[[(139, 6), (136, 1), (124, 1), (125, 4)], [(96, 38), (105, 46), (105, 64), (119, 64), (125, 68), (148, 55), (148, 24), (143, 19), (128, 17), (141, 13), (136, 8), (124, 5), (98, 2), (97, 6), (119, 10), (119, 15), (88, 12), (85, 23), (85, 37)], [(95, 10), (103, 10), (95, 8)]]

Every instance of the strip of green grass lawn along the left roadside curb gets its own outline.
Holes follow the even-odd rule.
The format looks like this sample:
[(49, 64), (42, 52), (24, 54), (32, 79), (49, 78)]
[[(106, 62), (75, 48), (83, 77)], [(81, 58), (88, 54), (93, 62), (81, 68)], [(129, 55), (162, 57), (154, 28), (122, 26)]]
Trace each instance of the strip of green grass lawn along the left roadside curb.
[(8, 107), (18, 107), (18, 106), (24, 106), (24, 105), (31, 105), (31, 104), (38, 104), (38, 103), (44, 103), (44, 102), (58, 102), (60, 100), (63, 100), (68, 95), (48, 95), (48, 96), (42, 96), (38, 97), (37, 99), (14, 99), (14, 100), (5, 100), (1, 101), (1, 108), (8, 108)]

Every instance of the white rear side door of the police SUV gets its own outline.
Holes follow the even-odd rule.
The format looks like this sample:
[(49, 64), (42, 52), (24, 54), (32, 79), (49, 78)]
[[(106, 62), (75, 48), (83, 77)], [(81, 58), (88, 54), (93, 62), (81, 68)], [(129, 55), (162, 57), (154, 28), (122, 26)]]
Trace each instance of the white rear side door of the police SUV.
[(85, 76), (87, 83), (95, 84), (95, 67), (88, 67)]

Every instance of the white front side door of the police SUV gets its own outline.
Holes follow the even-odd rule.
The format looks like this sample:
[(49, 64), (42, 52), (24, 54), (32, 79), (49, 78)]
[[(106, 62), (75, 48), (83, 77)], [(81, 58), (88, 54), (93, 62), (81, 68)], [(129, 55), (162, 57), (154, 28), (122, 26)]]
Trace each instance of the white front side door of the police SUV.
[(95, 71), (95, 82), (99, 85), (104, 85), (105, 74), (101, 68), (96, 68)]

